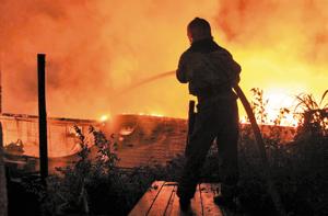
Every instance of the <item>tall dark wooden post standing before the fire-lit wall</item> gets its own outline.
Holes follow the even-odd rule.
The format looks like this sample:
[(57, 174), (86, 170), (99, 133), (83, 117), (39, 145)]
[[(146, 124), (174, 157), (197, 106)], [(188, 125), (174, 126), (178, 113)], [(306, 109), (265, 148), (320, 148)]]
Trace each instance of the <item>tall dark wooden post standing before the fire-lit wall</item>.
[(37, 83), (38, 83), (38, 145), (39, 172), (42, 180), (48, 177), (48, 139), (47, 139), (47, 110), (46, 110), (46, 55), (37, 54)]

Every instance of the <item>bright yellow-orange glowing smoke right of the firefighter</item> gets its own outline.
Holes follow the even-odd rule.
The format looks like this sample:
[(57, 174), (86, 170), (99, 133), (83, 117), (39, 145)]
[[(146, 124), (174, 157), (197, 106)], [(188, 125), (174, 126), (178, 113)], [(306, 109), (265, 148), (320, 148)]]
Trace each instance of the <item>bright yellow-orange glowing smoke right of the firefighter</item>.
[[(243, 84), (286, 94), (327, 89), (328, 2), (221, 0), (215, 25), (242, 60)], [(243, 79), (244, 78), (244, 79)]]

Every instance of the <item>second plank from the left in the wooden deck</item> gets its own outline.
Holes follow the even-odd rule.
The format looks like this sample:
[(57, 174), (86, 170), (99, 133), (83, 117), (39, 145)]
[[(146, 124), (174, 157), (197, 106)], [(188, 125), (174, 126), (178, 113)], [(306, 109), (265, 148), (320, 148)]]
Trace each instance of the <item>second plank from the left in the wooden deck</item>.
[(166, 208), (169, 204), (169, 200), (173, 195), (173, 190), (175, 185), (172, 183), (164, 184), (161, 192), (159, 193), (156, 200), (151, 206), (148, 215), (149, 216), (162, 216), (165, 214)]

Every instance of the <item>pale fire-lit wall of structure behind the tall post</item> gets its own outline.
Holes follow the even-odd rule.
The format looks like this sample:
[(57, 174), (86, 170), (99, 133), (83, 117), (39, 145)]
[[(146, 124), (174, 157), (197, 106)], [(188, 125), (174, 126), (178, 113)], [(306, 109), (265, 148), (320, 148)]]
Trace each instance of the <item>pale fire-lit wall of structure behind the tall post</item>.
[[(25, 172), (39, 170), (38, 116), (2, 114), (0, 115), (5, 162), (11, 171)], [(101, 127), (101, 123), (91, 120), (48, 118), (48, 169), (66, 167), (77, 160), (81, 150), (74, 127), (78, 126), (90, 145), (92, 136), (87, 136), (90, 126)], [(90, 146), (91, 147), (91, 146)]]

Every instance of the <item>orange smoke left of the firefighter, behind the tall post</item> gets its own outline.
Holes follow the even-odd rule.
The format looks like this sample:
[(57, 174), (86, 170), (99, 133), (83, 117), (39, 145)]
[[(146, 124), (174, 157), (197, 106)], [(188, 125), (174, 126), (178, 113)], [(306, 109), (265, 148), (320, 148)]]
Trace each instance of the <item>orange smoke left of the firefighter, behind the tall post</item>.
[[(208, 11), (215, 8), (210, 1), (196, 2), (2, 0), (4, 112), (37, 113), (37, 53), (47, 54), (50, 116), (94, 118), (107, 112), (169, 111), (173, 106), (164, 103), (163, 107), (162, 96), (172, 101), (177, 99), (171, 98), (175, 92), (184, 95), (173, 78), (156, 84), (166, 87), (162, 89), (166, 92), (153, 86), (125, 98), (112, 94), (176, 68), (179, 53), (188, 45), (186, 23), (195, 15), (210, 16)], [(167, 92), (167, 83), (175, 92)]]

